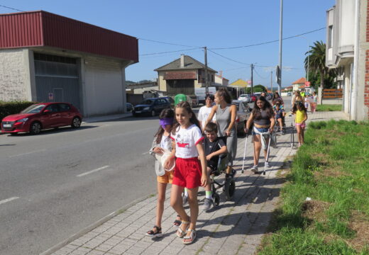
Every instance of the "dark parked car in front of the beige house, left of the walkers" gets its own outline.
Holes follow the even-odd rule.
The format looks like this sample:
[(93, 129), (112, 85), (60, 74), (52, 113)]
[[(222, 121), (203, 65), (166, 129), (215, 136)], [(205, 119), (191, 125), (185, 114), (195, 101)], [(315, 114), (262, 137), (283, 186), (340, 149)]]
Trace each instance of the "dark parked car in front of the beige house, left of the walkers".
[(170, 103), (165, 98), (146, 98), (137, 106), (133, 107), (132, 115), (151, 115), (159, 114), (163, 109), (170, 108)]

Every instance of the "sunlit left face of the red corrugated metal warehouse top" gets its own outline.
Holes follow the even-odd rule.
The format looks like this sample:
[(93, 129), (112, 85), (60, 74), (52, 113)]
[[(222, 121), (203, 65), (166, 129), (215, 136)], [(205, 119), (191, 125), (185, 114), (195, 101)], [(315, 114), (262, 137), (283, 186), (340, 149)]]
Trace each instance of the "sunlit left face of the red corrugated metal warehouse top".
[(42, 46), (41, 13), (0, 15), (0, 48)]

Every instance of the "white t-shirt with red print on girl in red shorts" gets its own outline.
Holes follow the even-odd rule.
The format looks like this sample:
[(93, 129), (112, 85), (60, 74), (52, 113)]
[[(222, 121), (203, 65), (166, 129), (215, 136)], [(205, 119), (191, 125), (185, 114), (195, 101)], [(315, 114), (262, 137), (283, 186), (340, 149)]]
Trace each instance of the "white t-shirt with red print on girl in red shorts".
[(196, 145), (204, 140), (204, 137), (197, 125), (190, 125), (189, 128), (179, 127), (170, 138), (175, 140), (175, 157), (189, 159), (199, 156)]

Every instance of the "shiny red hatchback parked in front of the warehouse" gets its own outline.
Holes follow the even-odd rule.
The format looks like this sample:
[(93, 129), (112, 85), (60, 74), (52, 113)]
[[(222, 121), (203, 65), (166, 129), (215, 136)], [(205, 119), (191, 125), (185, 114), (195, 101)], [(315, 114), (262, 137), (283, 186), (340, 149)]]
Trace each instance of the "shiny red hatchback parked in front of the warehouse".
[(82, 115), (70, 103), (36, 103), (21, 113), (6, 116), (1, 121), (1, 131), (16, 134), (31, 132), (38, 134), (48, 128), (59, 128), (71, 125), (79, 128)]

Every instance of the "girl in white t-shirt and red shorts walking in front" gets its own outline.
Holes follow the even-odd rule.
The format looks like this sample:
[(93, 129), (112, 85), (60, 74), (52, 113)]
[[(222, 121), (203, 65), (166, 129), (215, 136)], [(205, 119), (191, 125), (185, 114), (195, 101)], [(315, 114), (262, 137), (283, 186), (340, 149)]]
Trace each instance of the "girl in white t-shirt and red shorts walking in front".
[[(206, 174), (206, 158), (202, 147), (204, 137), (201, 126), (189, 103), (181, 102), (175, 106), (175, 123), (170, 137), (175, 142), (175, 149), (172, 150), (172, 154), (164, 164), (165, 167), (169, 167), (175, 160), (170, 205), (182, 218), (177, 237), (184, 237), (183, 244), (192, 244), (196, 239), (195, 229), (199, 215), (197, 191), (199, 186), (206, 186), (209, 176)], [(182, 205), (184, 188), (188, 190), (190, 217)]]

